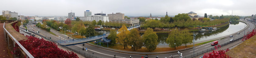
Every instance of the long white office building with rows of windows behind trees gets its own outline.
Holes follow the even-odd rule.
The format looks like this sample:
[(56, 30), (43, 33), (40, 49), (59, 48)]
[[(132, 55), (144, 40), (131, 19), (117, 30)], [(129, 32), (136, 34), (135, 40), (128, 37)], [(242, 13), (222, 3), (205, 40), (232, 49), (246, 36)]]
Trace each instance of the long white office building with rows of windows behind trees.
[(80, 20), (82, 21), (93, 21), (95, 20), (96, 22), (99, 22), (99, 20), (101, 21), (108, 21), (109, 22), (109, 17), (108, 16), (101, 16), (101, 15), (95, 15), (95, 16), (87, 16), (87, 17), (79, 17)]

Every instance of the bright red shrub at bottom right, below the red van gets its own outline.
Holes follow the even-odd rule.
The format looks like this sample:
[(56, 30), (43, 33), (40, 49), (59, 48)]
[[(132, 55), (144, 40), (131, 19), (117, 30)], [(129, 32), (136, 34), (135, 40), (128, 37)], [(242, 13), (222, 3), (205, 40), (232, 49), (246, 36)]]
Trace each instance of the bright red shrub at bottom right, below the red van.
[(218, 51), (218, 48), (220, 48), (220, 45), (214, 46), (214, 48), (217, 51), (212, 50), (213, 52), (205, 53), (203, 58), (231, 58), (227, 54), (225, 54), (227, 51), (229, 51), (229, 48), (227, 48), (226, 51), (224, 51), (224, 50)]

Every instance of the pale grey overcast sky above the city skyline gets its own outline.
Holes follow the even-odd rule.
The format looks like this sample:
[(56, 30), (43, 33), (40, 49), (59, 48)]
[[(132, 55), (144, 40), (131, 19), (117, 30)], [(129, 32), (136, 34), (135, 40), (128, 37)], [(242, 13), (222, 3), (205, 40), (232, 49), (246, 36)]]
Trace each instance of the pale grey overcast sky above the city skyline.
[(94, 13), (125, 13), (125, 16), (177, 15), (193, 11), (200, 16), (256, 14), (256, 0), (1, 0), (0, 10), (24, 16), (83, 16)]

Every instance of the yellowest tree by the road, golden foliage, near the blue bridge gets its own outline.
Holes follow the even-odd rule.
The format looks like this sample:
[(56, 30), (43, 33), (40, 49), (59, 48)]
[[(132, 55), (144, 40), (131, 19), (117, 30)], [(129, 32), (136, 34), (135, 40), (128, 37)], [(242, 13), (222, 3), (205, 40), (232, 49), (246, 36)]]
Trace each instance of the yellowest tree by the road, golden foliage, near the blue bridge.
[(123, 48), (125, 49), (128, 45), (128, 34), (130, 33), (129, 30), (127, 30), (126, 26), (123, 25), (122, 28), (118, 30), (118, 34), (116, 35), (118, 38), (116, 38), (116, 42), (120, 43), (120, 45), (123, 45)]

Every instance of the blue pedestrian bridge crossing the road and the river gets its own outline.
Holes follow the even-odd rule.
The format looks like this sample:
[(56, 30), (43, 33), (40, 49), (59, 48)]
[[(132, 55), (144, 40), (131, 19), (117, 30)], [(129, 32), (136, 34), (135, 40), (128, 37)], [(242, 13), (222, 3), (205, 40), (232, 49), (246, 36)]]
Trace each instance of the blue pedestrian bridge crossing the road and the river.
[[(136, 25), (136, 26), (127, 28), (127, 30), (131, 30), (131, 29), (139, 28), (139, 27), (140, 27), (140, 25)], [(110, 39), (106, 39), (106, 37), (108, 37), (108, 36), (109, 36), (109, 33), (108, 34), (97, 35), (97, 36), (86, 37), (86, 38), (80, 38), (80, 39), (58, 40), (56, 42), (59, 42), (59, 44), (66, 45), (66, 46), (97, 41), (97, 40), (100, 40), (100, 39), (102, 39), (104, 42), (110, 42), (111, 41)]]

